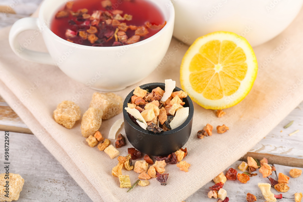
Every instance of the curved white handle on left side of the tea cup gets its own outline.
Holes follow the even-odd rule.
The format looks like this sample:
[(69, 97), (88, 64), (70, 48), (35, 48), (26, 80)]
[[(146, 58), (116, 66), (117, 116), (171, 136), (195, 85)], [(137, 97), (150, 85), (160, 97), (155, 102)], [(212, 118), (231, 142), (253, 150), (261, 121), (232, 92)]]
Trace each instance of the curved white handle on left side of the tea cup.
[[(17, 36), (25, 30), (40, 30), (38, 18), (21, 18), (14, 23), (9, 31), (9, 45), (20, 58), (42, 64), (55, 65), (49, 53), (28, 50), (16, 40)], [(22, 49), (21, 49), (22, 47)]]

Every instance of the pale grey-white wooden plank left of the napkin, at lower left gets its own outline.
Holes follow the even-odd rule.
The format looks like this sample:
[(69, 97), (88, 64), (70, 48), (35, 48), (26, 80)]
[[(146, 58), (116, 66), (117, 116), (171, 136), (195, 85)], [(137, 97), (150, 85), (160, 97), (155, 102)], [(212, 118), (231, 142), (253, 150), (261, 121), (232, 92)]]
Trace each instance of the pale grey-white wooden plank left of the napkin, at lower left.
[[(4, 144), (4, 131), (0, 131), (0, 142)], [(9, 172), (25, 180), (18, 202), (92, 201), (34, 135), (10, 132), (9, 143)]]

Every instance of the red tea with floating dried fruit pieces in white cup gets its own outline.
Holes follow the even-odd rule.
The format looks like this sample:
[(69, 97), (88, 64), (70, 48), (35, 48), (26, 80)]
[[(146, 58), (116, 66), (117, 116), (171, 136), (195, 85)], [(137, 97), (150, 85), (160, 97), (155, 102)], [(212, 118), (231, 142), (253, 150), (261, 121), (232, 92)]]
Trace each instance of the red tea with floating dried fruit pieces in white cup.
[(75, 0), (55, 13), (51, 30), (76, 44), (120, 46), (149, 38), (165, 24), (161, 11), (146, 0)]

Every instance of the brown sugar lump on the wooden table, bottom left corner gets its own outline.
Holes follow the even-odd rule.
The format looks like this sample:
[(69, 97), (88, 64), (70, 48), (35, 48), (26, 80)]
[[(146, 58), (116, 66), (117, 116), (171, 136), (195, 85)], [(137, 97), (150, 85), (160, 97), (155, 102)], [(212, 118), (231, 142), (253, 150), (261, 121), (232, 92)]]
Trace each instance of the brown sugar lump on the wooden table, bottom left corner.
[(19, 174), (0, 174), (0, 201), (18, 200), (23, 184), (24, 179)]

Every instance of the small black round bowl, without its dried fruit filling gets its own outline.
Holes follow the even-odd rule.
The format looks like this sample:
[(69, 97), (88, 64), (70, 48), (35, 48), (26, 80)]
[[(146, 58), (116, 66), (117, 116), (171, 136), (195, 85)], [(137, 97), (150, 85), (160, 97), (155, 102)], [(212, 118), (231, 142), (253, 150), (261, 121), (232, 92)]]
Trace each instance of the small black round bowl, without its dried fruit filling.
[[(149, 92), (157, 87), (160, 87), (164, 90), (165, 84), (150, 83), (140, 86), (142, 89), (148, 89)], [(174, 91), (181, 91), (181, 89), (176, 87)], [(171, 154), (172, 152), (175, 152), (183, 147), (184, 144), (188, 141), (188, 138), (191, 134), (192, 118), (194, 115), (194, 105), (192, 104), (189, 96), (183, 98), (183, 102), (185, 102), (183, 107), (189, 107), (189, 114), (186, 121), (181, 124), (181, 126), (173, 130), (163, 131), (161, 133), (155, 134), (151, 131), (144, 130), (135, 124), (131, 118), (129, 118), (127, 111), (124, 109), (127, 107), (127, 103), (130, 103), (133, 92), (134, 90), (128, 94), (123, 103), (124, 128), (128, 141), (137, 150), (141, 151), (144, 154), (152, 156), (163, 156)]]

